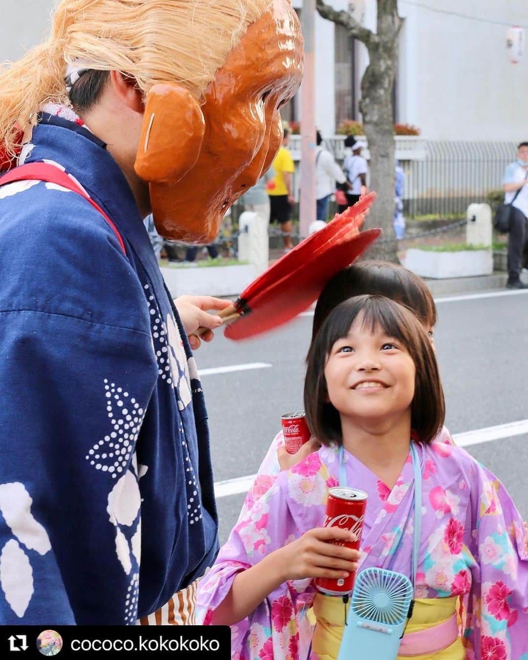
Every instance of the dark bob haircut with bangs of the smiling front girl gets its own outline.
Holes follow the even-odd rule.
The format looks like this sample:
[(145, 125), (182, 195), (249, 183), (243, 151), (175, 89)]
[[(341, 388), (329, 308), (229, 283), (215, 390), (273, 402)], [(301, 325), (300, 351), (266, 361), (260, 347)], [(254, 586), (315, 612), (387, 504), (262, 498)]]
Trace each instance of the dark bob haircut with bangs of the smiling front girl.
[(339, 304), (321, 325), (308, 352), (304, 381), (304, 409), (312, 434), (324, 445), (341, 444), (341, 418), (328, 401), (325, 366), (331, 348), (347, 337), (359, 320), (365, 332), (380, 328), (399, 340), (416, 367), (411, 410), (413, 436), (429, 444), (444, 424), (444, 391), (434, 350), (416, 316), (403, 305), (383, 296), (356, 296)]

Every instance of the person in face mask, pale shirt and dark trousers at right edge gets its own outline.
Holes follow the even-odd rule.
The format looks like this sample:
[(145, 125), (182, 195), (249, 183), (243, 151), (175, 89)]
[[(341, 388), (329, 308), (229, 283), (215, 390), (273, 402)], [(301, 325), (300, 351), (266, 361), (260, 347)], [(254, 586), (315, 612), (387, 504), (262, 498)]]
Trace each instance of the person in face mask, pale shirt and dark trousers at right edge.
[(504, 203), (512, 205), (508, 234), (507, 288), (528, 288), (521, 282), (521, 269), (528, 265), (528, 142), (517, 147), (517, 160), (504, 172)]

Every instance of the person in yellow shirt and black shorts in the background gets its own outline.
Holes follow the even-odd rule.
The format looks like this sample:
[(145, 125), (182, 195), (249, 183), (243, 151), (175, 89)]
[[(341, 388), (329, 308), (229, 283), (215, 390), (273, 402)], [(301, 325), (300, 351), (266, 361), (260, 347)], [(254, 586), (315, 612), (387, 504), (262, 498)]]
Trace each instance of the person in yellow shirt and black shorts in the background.
[(273, 161), (275, 177), (267, 185), (271, 207), (269, 219), (270, 222), (281, 223), (285, 252), (293, 248), (292, 220), (290, 218), (295, 203), (293, 196), (293, 173), (295, 172), (295, 166), (292, 154), (290, 154), (290, 150), (287, 148), (289, 141), (290, 131), (284, 129), (281, 149), (279, 149), (279, 153)]

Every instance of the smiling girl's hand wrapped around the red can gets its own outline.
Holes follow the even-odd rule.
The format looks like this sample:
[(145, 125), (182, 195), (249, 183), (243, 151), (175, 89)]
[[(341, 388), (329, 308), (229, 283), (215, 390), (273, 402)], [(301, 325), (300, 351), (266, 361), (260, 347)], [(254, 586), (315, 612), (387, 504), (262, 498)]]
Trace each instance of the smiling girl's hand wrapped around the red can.
[[(282, 581), (306, 578), (347, 578), (358, 570), (360, 552), (345, 545), (354, 541), (354, 533), (338, 527), (316, 527), (276, 550)], [(333, 542), (333, 543), (332, 543)]]

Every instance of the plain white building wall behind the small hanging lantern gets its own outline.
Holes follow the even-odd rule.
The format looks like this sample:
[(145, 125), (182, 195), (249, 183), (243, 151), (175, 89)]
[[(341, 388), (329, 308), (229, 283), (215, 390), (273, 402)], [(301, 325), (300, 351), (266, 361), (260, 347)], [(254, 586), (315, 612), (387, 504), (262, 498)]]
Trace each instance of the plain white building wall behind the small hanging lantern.
[(400, 121), (418, 125), (428, 139), (527, 140), (528, 52), (512, 64), (506, 31), (528, 24), (528, 3), (427, 0), (422, 5), (441, 11), (399, 1), (405, 16)]

